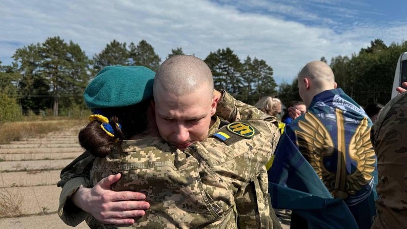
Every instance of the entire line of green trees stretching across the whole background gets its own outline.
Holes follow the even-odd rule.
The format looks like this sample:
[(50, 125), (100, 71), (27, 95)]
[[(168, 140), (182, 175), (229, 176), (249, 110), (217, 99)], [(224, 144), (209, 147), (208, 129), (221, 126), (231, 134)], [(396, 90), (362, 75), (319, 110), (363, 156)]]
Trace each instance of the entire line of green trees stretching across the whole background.
[[(338, 87), (358, 103), (384, 104), (390, 100), (397, 59), (405, 51), (407, 41), (386, 46), (376, 39), (351, 57), (333, 57), (330, 66)], [(184, 51), (177, 47), (166, 58), (179, 54)], [(86, 109), (83, 91), (103, 67), (138, 65), (156, 71), (161, 63), (146, 40), (138, 44), (113, 40), (90, 58), (78, 44), (59, 36), (19, 48), (12, 58), (11, 65), (0, 61), (0, 121), (18, 119), (12, 118), (21, 117), (12, 115), (18, 112), (48, 110), (60, 116), (72, 109)], [(327, 62), (324, 57), (321, 60)], [(247, 56), (240, 60), (233, 50), (223, 48), (210, 52), (204, 61), (212, 70), (215, 88), (225, 89), (243, 102), (254, 104), (266, 95), (279, 97), (285, 105), (300, 100), (297, 79), (282, 82), (277, 91), (273, 68), (262, 59)]]

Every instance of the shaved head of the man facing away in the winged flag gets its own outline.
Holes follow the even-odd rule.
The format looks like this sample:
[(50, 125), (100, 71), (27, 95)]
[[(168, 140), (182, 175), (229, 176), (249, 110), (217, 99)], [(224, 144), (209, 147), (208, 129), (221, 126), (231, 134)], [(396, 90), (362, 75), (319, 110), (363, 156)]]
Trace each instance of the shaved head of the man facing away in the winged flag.
[(298, 93), (307, 108), (315, 95), (336, 89), (331, 67), (322, 61), (311, 61), (298, 74)]

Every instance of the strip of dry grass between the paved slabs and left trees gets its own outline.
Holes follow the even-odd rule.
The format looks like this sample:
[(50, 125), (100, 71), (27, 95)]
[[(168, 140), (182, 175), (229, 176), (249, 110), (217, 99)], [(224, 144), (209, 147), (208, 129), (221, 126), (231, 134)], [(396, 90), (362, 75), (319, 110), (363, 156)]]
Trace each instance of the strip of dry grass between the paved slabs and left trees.
[(46, 121), (17, 121), (0, 123), (0, 144), (18, 141), (26, 137), (47, 134), (53, 131), (85, 126), (86, 119), (58, 119)]

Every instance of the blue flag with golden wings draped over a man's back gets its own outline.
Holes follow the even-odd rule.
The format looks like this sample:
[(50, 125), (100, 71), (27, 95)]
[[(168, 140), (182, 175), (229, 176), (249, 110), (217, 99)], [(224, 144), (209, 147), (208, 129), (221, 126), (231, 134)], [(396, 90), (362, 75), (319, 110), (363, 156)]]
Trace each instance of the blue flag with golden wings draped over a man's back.
[[(287, 136), (283, 136), (279, 142), (269, 173), (271, 188), (274, 189), (271, 192), (274, 192), (275, 197), (284, 195), (280, 193), (282, 190), (273, 185), (286, 184), (287, 188), (294, 189), (295, 193), (304, 191), (311, 194), (314, 200), (301, 206), (308, 214), (312, 213), (309, 209), (315, 207), (315, 197), (324, 198), (325, 200), (321, 200), (324, 206), (332, 201), (344, 201), (359, 228), (370, 228), (375, 215), (374, 197), (377, 183), (377, 160), (370, 141), (371, 126), (372, 122), (363, 109), (341, 89), (319, 93), (313, 98), (308, 112), (286, 127), (284, 133)], [(303, 156), (303, 160), (298, 159), (298, 153)], [(281, 161), (286, 163), (287, 168), (296, 172), (284, 177), (283, 174), (287, 173), (288, 169), (280, 168)], [(311, 168), (313, 173), (304, 172), (305, 168)], [(318, 186), (320, 183), (315, 186), (318, 183), (316, 178), (322, 181), (325, 190)], [(330, 195), (327, 196), (327, 192)], [(298, 197), (304, 201), (303, 195)], [(332, 200), (332, 197), (337, 199)], [(272, 198), (275, 201), (280, 199)], [(278, 203), (277, 205), (287, 206)], [(277, 207), (274, 202), (273, 207)], [(298, 209), (298, 205), (283, 208), (294, 210)], [(298, 214), (301, 215), (299, 212)], [(320, 217), (323, 218), (326, 214), (327, 212), (323, 212)], [(339, 217), (340, 213), (335, 213), (334, 216)]]

